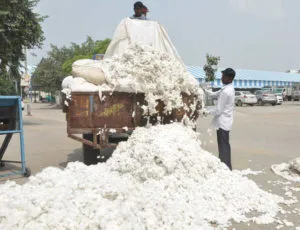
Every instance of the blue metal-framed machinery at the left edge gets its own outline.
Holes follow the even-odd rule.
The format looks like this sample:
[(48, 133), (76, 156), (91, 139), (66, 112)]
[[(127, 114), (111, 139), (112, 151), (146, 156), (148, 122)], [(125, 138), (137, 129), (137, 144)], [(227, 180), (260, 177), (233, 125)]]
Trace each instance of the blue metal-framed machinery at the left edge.
[[(20, 135), (21, 161), (2, 160), (13, 134)], [(6, 135), (0, 147), (0, 170), (5, 167), (5, 163), (20, 163), (22, 166), (20, 171), (0, 174), (0, 177), (12, 175), (23, 175), (29, 177), (30, 170), (25, 164), (21, 97), (0, 96), (0, 135)]]

